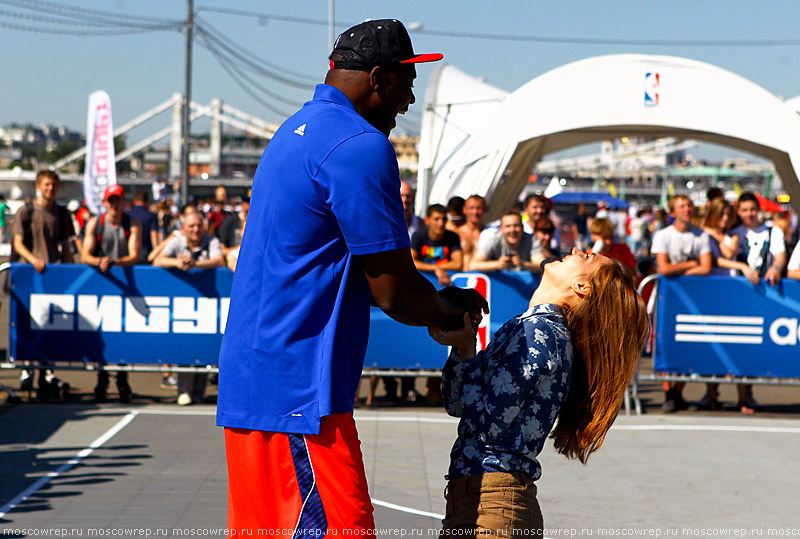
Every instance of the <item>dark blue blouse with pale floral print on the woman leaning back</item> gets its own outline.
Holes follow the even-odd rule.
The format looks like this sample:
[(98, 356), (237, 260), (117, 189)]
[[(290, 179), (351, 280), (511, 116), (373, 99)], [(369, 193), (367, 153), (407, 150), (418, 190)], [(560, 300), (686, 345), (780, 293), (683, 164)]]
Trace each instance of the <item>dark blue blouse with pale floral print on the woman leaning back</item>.
[(557, 305), (536, 305), (506, 322), (486, 350), (442, 372), (447, 413), (460, 417), (447, 479), (523, 472), (537, 480), (536, 456), (567, 397), (572, 339)]

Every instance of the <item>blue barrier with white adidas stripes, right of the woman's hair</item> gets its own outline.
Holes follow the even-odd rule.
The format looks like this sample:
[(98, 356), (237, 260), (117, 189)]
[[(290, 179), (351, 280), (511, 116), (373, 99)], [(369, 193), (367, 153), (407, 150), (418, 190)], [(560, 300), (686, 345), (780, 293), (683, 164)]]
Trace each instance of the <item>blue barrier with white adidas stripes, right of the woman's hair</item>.
[(653, 368), (676, 374), (800, 377), (800, 282), (660, 277)]

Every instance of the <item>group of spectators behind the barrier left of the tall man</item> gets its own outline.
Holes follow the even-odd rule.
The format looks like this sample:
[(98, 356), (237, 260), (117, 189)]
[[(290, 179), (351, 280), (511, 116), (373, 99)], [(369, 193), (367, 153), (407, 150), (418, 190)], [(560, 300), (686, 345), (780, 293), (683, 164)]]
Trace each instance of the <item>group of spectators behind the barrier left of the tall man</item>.
[[(235, 268), (249, 200), (229, 200), (224, 186), (217, 187), (214, 198), (179, 207), (179, 184), (171, 193), (162, 178), (152, 189), (135, 193), (110, 185), (103, 195), (102, 213), (91, 215), (86, 204), (77, 200), (66, 207), (57, 204), (60, 184), (55, 172), (37, 175), (37, 197), (26, 201), (13, 217), (11, 261), (30, 263), (39, 273), (48, 264), (59, 263), (83, 263), (102, 273), (112, 266), (136, 264), (181, 271)], [(5, 217), (4, 208), (2, 212)], [(20, 388), (33, 391), (34, 378), (33, 369), (23, 370)], [(129, 402), (133, 390), (127, 372), (118, 371), (115, 378), (119, 400)], [(205, 374), (165, 373), (162, 387), (176, 390), (178, 404), (192, 404), (202, 401), (206, 378)], [(109, 373), (99, 371), (94, 389), (97, 402), (108, 400), (108, 383)], [(40, 370), (37, 399), (66, 400), (69, 389), (51, 369)]]

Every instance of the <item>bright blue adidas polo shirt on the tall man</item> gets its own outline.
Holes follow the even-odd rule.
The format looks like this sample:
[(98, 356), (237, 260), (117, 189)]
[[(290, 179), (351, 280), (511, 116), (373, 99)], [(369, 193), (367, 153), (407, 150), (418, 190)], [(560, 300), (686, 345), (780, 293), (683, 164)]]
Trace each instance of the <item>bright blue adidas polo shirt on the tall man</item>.
[(370, 305), (354, 255), (408, 247), (392, 145), (342, 92), (318, 85), (253, 179), (217, 424), (318, 434), (321, 417), (352, 411)]

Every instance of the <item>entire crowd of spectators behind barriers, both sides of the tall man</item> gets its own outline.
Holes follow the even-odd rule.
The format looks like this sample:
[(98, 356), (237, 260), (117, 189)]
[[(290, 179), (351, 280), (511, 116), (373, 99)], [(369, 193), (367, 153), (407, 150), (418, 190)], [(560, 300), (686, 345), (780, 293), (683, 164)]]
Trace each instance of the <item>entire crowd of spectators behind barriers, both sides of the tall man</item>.
[[(178, 270), (227, 266), (234, 271), (245, 229), (249, 200), (230, 200), (225, 187), (214, 197), (179, 207), (178, 191), (169, 196), (166, 181), (148, 190), (128, 193), (122, 186), (106, 190), (104, 214), (92, 216), (86, 205), (72, 201), (69, 210), (55, 203), (60, 185), (57, 174), (40, 173), (38, 196), (21, 206), (10, 228), (12, 260), (33, 264), (43, 272), (47, 264), (82, 262), (108, 271), (113, 265), (152, 264)], [(743, 193), (727, 201), (719, 189), (708, 192), (707, 203), (695, 207), (683, 195), (668, 208), (632, 208), (613, 211), (600, 204), (581, 204), (569, 219), (553, 212), (551, 202), (529, 195), (520, 207), (510, 208), (493, 223), (485, 223), (486, 201), (479, 195), (453, 197), (447, 205), (433, 204), (425, 218), (414, 214), (414, 192), (401, 182), (400, 194), (418, 270), (430, 272), (440, 286), (448, 286), (459, 271), (540, 271), (542, 261), (580, 249), (620, 260), (642, 278), (661, 275), (743, 275), (752, 284), (775, 286), (784, 277), (800, 280), (797, 216), (761, 211), (759, 199)], [(132, 195), (132, 196), (130, 196)], [(0, 200), (0, 208), (5, 202)], [(3, 210), (5, 213), (5, 210)], [(0, 221), (5, 226), (5, 221)], [(791, 256), (789, 256), (791, 253)], [(33, 386), (34, 372), (23, 371), (22, 386)], [(394, 378), (384, 377), (393, 400), (415, 400), (413, 378), (403, 378), (398, 395)], [(42, 400), (65, 397), (52, 371), (40, 374)], [(106, 400), (108, 376), (101, 374), (95, 395)], [(179, 404), (203, 399), (205, 376), (166, 374), (163, 386), (174, 387)], [(429, 395), (437, 381), (429, 381)], [(63, 386), (63, 384), (61, 384)], [(120, 400), (132, 395), (127, 376), (117, 375)], [(664, 410), (687, 407), (679, 383), (665, 383)], [(758, 404), (752, 386), (738, 387), (738, 409), (753, 413)], [(434, 401), (438, 399), (434, 395)], [(720, 409), (719, 390), (708, 384), (697, 403), (702, 409)]]

